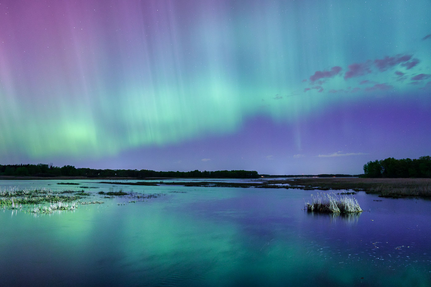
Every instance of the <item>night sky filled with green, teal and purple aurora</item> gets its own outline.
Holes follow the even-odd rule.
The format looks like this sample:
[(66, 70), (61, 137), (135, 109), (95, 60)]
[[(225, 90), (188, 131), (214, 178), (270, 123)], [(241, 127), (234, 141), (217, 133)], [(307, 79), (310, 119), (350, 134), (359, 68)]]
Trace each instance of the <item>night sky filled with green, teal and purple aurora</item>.
[(0, 163), (362, 172), (431, 150), (431, 3), (0, 1)]

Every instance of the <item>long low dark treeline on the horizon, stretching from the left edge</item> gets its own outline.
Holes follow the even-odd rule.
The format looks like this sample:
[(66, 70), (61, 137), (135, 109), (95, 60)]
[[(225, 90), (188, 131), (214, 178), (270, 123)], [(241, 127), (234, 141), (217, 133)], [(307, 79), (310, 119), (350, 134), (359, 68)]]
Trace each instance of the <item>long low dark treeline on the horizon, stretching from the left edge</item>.
[(87, 178), (258, 178), (256, 171), (219, 170), (215, 172), (198, 170), (190, 172), (156, 172), (148, 169), (92, 169), (75, 168), (72, 165), (63, 167), (39, 163), (37, 165), (0, 165), (0, 175), (11, 176), (81, 176)]

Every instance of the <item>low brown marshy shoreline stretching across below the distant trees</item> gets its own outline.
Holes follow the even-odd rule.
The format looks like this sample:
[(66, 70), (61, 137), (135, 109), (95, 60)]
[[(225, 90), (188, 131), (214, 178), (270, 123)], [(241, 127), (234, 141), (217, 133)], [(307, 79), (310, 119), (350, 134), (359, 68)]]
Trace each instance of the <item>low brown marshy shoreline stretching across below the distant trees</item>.
[[(187, 178), (132, 178), (132, 177), (31, 177), (31, 176), (0, 176), (0, 180), (97, 180), (99, 183), (104, 180), (123, 181), (117, 184), (130, 185), (183, 185), (183, 186), (200, 186), (200, 187), (261, 187), (261, 188), (286, 188), (302, 190), (353, 190), (365, 191), (366, 193), (375, 193), (380, 197), (431, 197), (431, 178), (291, 178), (287, 180), (265, 178), (250, 178), (253, 182), (221, 182), (214, 181), (217, 178), (190, 178), (202, 179), (202, 181), (175, 182), (175, 179)], [(212, 181), (208, 181), (211, 179)], [(248, 178), (247, 178), (248, 179)], [(138, 182), (124, 182), (124, 181)], [(160, 180), (161, 182), (146, 182), (146, 180)], [(174, 182), (165, 182), (163, 180), (174, 180)], [(281, 185), (287, 184), (287, 185)]]

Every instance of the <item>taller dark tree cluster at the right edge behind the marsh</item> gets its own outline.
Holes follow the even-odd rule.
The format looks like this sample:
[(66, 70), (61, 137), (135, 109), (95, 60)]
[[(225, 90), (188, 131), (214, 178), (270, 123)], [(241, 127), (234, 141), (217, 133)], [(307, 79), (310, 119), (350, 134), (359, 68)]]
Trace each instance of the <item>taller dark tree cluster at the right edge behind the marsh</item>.
[(364, 173), (369, 178), (431, 178), (431, 157), (375, 160), (364, 165)]

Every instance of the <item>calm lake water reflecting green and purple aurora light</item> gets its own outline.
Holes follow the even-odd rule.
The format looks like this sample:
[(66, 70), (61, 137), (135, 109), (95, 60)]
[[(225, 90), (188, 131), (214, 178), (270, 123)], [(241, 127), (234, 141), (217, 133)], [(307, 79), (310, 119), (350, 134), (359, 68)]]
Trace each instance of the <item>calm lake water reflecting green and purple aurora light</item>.
[[(78, 189), (56, 182), (0, 187)], [(1, 209), (0, 285), (431, 286), (428, 200), (360, 192), (370, 211), (342, 217), (302, 210), (316, 190), (75, 182), (164, 195), (51, 215)]]

